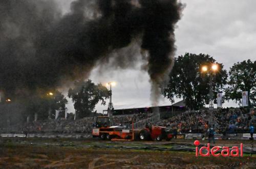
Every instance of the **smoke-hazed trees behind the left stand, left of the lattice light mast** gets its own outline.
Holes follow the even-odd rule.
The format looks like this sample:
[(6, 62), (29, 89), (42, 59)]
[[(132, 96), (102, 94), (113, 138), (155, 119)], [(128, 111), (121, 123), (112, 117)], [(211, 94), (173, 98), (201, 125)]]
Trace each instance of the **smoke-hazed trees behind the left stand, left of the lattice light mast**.
[[(68, 97), (74, 102), (76, 118), (93, 116), (95, 105), (101, 101), (106, 104), (110, 91), (101, 83), (95, 84), (90, 79), (79, 80), (69, 89)], [(38, 90), (36, 94), (19, 99), (0, 102), (0, 127), (17, 125), (26, 121), (55, 119), (55, 111), (59, 110), (58, 118), (65, 118), (68, 100), (58, 90)], [(74, 119), (74, 114), (68, 114)]]

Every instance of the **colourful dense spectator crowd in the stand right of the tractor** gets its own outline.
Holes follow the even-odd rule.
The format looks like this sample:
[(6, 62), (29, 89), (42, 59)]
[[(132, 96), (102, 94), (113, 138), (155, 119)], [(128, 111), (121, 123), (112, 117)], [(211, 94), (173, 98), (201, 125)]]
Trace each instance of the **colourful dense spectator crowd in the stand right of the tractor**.
[[(256, 125), (254, 109), (223, 108), (213, 111), (213, 124), (217, 133), (242, 133), (249, 125)], [(209, 127), (208, 110), (186, 111), (163, 120), (161, 125), (176, 128), (181, 133), (205, 133)]]

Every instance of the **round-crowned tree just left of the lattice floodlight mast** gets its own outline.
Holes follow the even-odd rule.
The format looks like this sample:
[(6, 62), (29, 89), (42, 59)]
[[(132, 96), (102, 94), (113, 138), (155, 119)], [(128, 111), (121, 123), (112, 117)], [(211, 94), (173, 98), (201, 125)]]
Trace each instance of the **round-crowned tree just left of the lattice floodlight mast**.
[(105, 105), (105, 100), (110, 97), (110, 91), (98, 83), (87, 81), (75, 82), (74, 89), (69, 90), (69, 98), (72, 98), (76, 115), (78, 118), (88, 117), (95, 109), (95, 105), (101, 101), (101, 104)]

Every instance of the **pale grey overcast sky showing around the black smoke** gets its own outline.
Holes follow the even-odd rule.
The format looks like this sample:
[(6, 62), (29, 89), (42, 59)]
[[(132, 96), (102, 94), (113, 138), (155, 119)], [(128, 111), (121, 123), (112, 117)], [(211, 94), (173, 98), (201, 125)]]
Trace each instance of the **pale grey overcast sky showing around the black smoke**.
[[(71, 0), (58, 0), (60, 8), (68, 11)], [(207, 53), (225, 69), (233, 63), (243, 60), (256, 59), (256, 1), (246, 0), (183, 0), (186, 4), (183, 17), (175, 31), (177, 52), (176, 56), (190, 53)], [(98, 68), (91, 73), (94, 82), (116, 81), (113, 88), (113, 102), (116, 108), (123, 104), (134, 106), (151, 105), (150, 82), (146, 72), (136, 69), (105, 71), (98, 73)], [(168, 104), (162, 99), (160, 104)], [(224, 106), (236, 106), (232, 102)], [(130, 105), (131, 106), (131, 105)], [(74, 112), (72, 103), (68, 105), (69, 112)], [(106, 108), (97, 105), (101, 112)]]

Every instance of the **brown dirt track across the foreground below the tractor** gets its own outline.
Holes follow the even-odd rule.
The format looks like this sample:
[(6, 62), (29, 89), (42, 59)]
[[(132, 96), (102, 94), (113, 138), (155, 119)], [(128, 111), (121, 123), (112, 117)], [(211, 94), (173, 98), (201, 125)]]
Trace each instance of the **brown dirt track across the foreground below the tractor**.
[[(183, 140), (188, 143), (191, 141)], [(168, 144), (173, 145), (174, 142)], [(236, 145), (237, 143), (235, 141), (225, 143), (222, 140), (217, 144)], [(128, 149), (120, 149), (120, 145)], [(166, 142), (159, 144), (39, 138), (2, 139), (0, 168), (255, 168), (256, 166), (255, 155), (249, 154), (245, 154), (242, 158), (216, 158), (195, 157), (194, 152), (133, 149), (145, 145), (168, 148)]]

